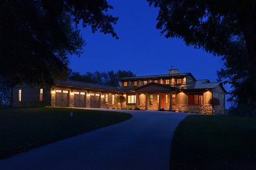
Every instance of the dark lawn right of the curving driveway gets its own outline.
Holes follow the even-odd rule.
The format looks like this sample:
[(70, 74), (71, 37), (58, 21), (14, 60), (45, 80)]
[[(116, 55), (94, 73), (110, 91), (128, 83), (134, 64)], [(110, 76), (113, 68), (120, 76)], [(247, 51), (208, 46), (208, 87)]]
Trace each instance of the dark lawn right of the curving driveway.
[(190, 115), (175, 131), (170, 169), (255, 167), (255, 118)]

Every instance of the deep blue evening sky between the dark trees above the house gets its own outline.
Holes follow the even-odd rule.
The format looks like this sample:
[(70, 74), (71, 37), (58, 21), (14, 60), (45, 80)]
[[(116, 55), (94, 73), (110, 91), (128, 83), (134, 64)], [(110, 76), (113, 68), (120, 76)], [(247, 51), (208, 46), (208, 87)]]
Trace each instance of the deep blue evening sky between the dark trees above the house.
[[(119, 39), (90, 27), (82, 29), (87, 42), (80, 58), (70, 59), (70, 68), (79, 73), (87, 71), (130, 70), (136, 75), (167, 74), (171, 65), (180, 73), (190, 72), (197, 79), (215, 82), (217, 70), (223, 67), (220, 57), (194, 46), (186, 46), (181, 39), (166, 39), (156, 29), (158, 10), (144, 1), (109, 0), (114, 7), (109, 13), (118, 16), (114, 25)], [(228, 90), (228, 87), (226, 87)], [(226, 107), (229, 107), (226, 103)]]

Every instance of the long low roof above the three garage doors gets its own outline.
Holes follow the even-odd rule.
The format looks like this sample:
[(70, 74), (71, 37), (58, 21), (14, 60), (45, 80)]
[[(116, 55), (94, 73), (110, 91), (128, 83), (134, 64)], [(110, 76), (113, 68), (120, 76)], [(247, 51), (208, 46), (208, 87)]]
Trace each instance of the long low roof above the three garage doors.
[(109, 90), (109, 91), (115, 91), (115, 92), (122, 92), (116, 86), (93, 84), (93, 83), (89, 83), (89, 82), (77, 82), (77, 81), (73, 81), (73, 80), (67, 80), (65, 82), (57, 80), (56, 84), (64, 85), (64, 86), (75, 86), (75, 87), (79, 87), (79, 88), (91, 88), (91, 89), (95, 89), (95, 90)]

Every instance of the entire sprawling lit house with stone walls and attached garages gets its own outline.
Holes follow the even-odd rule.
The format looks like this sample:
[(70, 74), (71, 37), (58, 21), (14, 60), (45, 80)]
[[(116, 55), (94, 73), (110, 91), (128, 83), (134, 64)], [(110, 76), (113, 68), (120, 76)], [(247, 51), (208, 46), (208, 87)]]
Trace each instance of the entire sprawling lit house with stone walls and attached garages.
[[(171, 110), (224, 114), (225, 93), (221, 82), (196, 80), (191, 73), (169, 69), (166, 75), (134, 76), (119, 79), (119, 87), (68, 80), (57, 81), (51, 88), (14, 86), (13, 107), (84, 107), (119, 109), (117, 95), (126, 99), (122, 108), (140, 110)], [(209, 100), (217, 98), (220, 105)]]

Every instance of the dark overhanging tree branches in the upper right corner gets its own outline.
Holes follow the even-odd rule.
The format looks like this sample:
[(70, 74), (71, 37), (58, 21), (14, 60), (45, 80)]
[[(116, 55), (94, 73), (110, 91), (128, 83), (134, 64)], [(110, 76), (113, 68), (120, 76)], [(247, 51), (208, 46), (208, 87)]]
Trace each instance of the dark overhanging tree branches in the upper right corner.
[(255, 0), (147, 0), (159, 9), (157, 29), (166, 38), (179, 37), (186, 45), (215, 55), (226, 54), (230, 42), (246, 46), (256, 90)]

